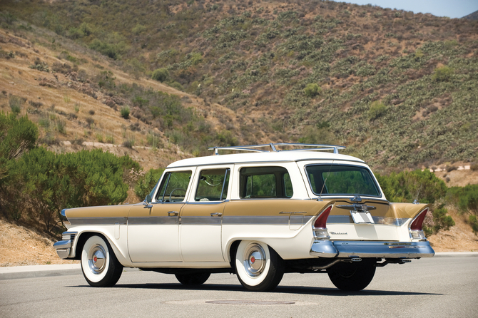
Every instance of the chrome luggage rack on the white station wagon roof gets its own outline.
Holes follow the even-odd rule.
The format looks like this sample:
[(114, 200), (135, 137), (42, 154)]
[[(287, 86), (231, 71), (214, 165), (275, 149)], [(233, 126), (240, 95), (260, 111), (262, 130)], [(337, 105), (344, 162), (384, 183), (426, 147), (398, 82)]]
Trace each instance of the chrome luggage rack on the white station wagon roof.
[[(276, 146), (298, 146), (300, 149), (279, 150)], [(271, 150), (263, 150), (258, 148), (270, 148)], [(303, 148), (305, 147), (305, 148)], [(333, 150), (334, 153), (339, 153), (339, 149), (345, 149), (343, 145), (315, 145), (310, 143), (266, 143), (264, 145), (233, 145), (230, 147), (210, 147), (208, 150), (214, 150), (214, 155), (219, 155), (219, 150), (238, 150), (250, 151), (253, 153), (278, 153), (280, 151), (322, 151)]]

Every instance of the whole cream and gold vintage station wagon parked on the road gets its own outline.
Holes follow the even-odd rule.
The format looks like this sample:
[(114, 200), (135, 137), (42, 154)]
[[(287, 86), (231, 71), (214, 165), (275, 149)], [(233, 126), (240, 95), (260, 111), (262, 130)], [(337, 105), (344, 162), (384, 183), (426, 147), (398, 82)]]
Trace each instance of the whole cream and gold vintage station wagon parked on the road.
[(168, 165), (144, 202), (63, 210), (71, 226), (54, 247), (81, 260), (95, 287), (138, 267), (181, 284), (230, 272), (255, 291), (274, 289), (284, 273), (327, 272), (356, 291), (377, 267), (432, 257), (422, 231), (429, 206), (387, 201), (367, 164), (343, 148), (210, 148)]

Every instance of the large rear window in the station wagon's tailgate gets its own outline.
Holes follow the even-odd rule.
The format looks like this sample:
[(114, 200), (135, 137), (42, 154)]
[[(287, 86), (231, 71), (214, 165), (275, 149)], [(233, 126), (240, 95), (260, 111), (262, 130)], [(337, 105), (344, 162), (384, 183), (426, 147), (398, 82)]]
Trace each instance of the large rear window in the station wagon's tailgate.
[(380, 197), (372, 173), (356, 165), (307, 165), (307, 178), (315, 195), (368, 195)]

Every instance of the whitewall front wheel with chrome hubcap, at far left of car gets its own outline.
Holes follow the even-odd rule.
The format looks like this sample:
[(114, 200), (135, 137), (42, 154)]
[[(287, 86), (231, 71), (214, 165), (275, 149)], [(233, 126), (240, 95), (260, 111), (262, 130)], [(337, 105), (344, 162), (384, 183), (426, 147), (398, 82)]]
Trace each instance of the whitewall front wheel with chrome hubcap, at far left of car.
[(123, 265), (116, 259), (108, 242), (99, 235), (93, 235), (83, 245), (81, 270), (91, 286), (111, 287), (120, 279)]

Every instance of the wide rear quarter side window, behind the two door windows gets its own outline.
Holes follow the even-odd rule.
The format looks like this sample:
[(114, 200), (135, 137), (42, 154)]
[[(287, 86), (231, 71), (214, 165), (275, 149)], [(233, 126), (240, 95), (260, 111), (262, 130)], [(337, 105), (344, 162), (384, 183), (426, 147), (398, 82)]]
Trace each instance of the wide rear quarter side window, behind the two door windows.
[(292, 198), (294, 190), (288, 170), (283, 167), (240, 169), (240, 198)]

